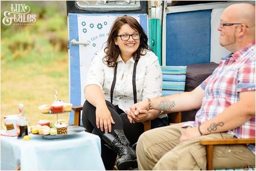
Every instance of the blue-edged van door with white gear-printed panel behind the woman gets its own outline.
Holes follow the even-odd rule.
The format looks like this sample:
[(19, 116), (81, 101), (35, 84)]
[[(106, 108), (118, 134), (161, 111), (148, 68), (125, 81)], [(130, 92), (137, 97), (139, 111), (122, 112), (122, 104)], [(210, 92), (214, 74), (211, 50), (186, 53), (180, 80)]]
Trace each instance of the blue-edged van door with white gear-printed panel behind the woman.
[[(147, 1), (67, 1), (69, 87), (73, 106), (83, 105), (84, 80), (91, 61), (105, 47), (113, 21), (127, 14), (148, 32)], [(74, 124), (74, 113), (70, 113)]]

